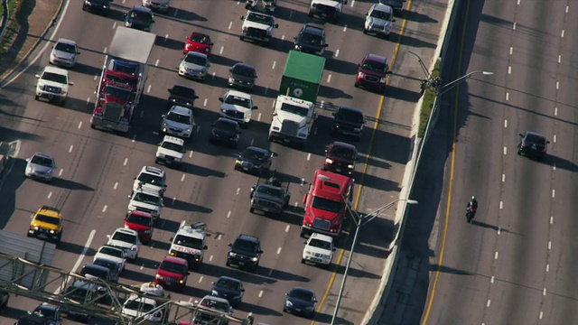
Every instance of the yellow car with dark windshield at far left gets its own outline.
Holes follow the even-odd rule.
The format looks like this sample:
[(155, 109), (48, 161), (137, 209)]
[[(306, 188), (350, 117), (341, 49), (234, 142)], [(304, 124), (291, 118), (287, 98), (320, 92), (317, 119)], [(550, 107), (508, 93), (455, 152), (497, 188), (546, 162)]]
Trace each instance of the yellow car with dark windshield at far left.
[(30, 220), (27, 237), (47, 239), (56, 244), (62, 237), (61, 210), (49, 206), (42, 206)]

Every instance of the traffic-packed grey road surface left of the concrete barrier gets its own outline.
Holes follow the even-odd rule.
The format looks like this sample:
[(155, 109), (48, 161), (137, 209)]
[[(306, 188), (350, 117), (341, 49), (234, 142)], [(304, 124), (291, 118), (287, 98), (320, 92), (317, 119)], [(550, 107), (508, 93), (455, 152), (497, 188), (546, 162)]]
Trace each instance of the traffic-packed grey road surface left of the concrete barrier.
[[(127, 265), (120, 282), (153, 280), (156, 266), (166, 255), (169, 238), (178, 224), (183, 219), (198, 220), (206, 222), (210, 231), (205, 265), (199, 272), (191, 274), (187, 288), (182, 294), (175, 293), (175, 299), (197, 300), (210, 293), (210, 282), (216, 277), (229, 275), (245, 283), (244, 303), (236, 311), (239, 316), (252, 313), (256, 320), (271, 324), (305, 324), (312, 320), (282, 312), (284, 292), (300, 285), (317, 293), (320, 303), (315, 320), (329, 322), (338, 290), (333, 280), (340, 281), (343, 268), (334, 265), (330, 270), (322, 270), (300, 264), (303, 238), (299, 237), (299, 225), (301, 200), (307, 189), (303, 183), (311, 181), (315, 169), (322, 165), (324, 146), (332, 141), (329, 135), (331, 112), (321, 110), (312, 141), (303, 151), (271, 144), (272, 150), (279, 153), (274, 168), (294, 181), (290, 189), (293, 208), (283, 218), (265, 218), (248, 212), (248, 193), (256, 178), (233, 171), (237, 151), (208, 142), (210, 123), (218, 116), (218, 99), (226, 91), (228, 69), (235, 62), (242, 61), (256, 67), (258, 87), (255, 98), (259, 108), (251, 125), (243, 130), (239, 147), (269, 145), (266, 131), (275, 88), (294, 35), (304, 23), (312, 22), (306, 15), (308, 2), (279, 1), (275, 12), (279, 28), (274, 32), (275, 40), (271, 47), (265, 48), (238, 39), (239, 18), (246, 13), (243, 3), (173, 0), (170, 12), (158, 14), (155, 18), (153, 32), (158, 36), (157, 42), (149, 59), (151, 69), (145, 96), (130, 133), (120, 136), (92, 130), (89, 118), (104, 52), (115, 28), (122, 24), (123, 13), (137, 4), (139, 1), (136, 0), (117, 0), (113, 3), (112, 13), (102, 17), (83, 12), (78, 1), (68, 2), (54, 39), (65, 37), (77, 41), (81, 54), (79, 64), (70, 72), (74, 86), (66, 107), (52, 106), (33, 98), (34, 74), (48, 63), (48, 52), (44, 52), (41, 60), (13, 84), (0, 90), (5, 113), (0, 116), (3, 137), (8, 141), (22, 141), (14, 169), (0, 196), (3, 207), (0, 226), (25, 234), (29, 216), (35, 209), (42, 204), (59, 207), (66, 226), (54, 265), (74, 271), (89, 263), (95, 249), (106, 242), (106, 235), (122, 226), (128, 201), (126, 195), (130, 193), (136, 172), (143, 165), (154, 164), (155, 145), (159, 141), (156, 133), (164, 113), (166, 89), (174, 84), (190, 85), (200, 96), (194, 111), (200, 127), (189, 144), (182, 170), (165, 169), (168, 190), (163, 219), (154, 231), (152, 244), (142, 247), (139, 259), (135, 264)], [(362, 190), (356, 200), (358, 209), (363, 212), (396, 199), (409, 151), (408, 136), (413, 113), (413, 103), (408, 106), (410, 109), (394, 109), (388, 107), (387, 100), (380, 95), (353, 87), (356, 63), (366, 53), (378, 53), (388, 58), (393, 58), (396, 53), (396, 37), (388, 42), (362, 33), (363, 16), (369, 5), (368, 2), (351, 1), (344, 9), (339, 25), (321, 23), (327, 33), (326, 42), (330, 45), (325, 54), (328, 62), (320, 92), (322, 107), (347, 104), (362, 108), (369, 117), (378, 117), (377, 120), (370, 118), (368, 124), (373, 126), (375, 121), (378, 125), (375, 136), (368, 127), (363, 140), (357, 144), (359, 152), (364, 154), (369, 153), (372, 139), (374, 144), (379, 144), (371, 151), (372, 157), (362, 161), (368, 164), (368, 173), (361, 175), (365, 166), (360, 164), (355, 175), (358, 183), (363, 181), (363, 186), (358, 187)], [(396, 33), (401, 24), (402, 20), (398, 19)], [(204, 83), (182, 79), (176, 73), (185, 37), (193, 31), (209, 33), (215, 43), (210, 55), (210, 78)], [(393, 70), (396, 71), (395, 65)], [(415, 74), (415, 77), (419, 75)], [(405, 95), (414, 93), (402, 90), (396, 88)], [(394, 95), (391, 92), (389, 95), (403, 98), (399, 93)], [(412, 102), (416, 98), (408, 99)], [(403, 100), (396, 102), (400, 103), (396, 108), (400, 108)], [(23, 178), (23, 159), (35, 152), (50, 153), (56, 158), (58, 177), (50, 184)], [(365, 249), (360, 249), (352, 265), (349, 281), (354, 284), (345, 292), (346, 297), (341, 302), (342, 322), (360, 323), (375, 294), (383, 261), (387, 257), (384, 247), (388, 244), (380, 228), (387, 222), (383, 221), (381, 225), (376, 222), (375, 225), (364, 232), (361, 247)], [(265, 253), (256, 274), (225, 266), (227, 243), (239, 233), (261, 239)], [(82, 255), (84, 251), (86, 255)], [(341, 254), (333, 262), (340, 261), (340, 258)], [(19, 312), (31, 310), (36, 303), (13, 297), (7, 317), (17, 317)], [(5, 321), (9, 320), (0, 317), (0, 322)]]

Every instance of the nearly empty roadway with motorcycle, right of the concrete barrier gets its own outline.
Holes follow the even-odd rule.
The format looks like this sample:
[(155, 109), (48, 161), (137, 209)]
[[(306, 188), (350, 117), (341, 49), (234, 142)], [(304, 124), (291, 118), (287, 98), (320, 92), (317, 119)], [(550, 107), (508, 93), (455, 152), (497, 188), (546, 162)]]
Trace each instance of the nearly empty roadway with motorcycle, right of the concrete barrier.
[[(575, 323), (578, 120), (571, 31), (578, 9), (547, 1), (465, 1), (463, 8), (454, 77), (473, 70), (495, 75), (474, 76), (444, 101), (448, 113), (426, 155), (447, 157), (444, 186), (418, 188), (415, 197), (440, 203), (439, 227), (435, 204), (421, 214), (420, 204), (413, 218), (424, 222), (414, 221), (408, 231), (430, 240), (407, 239), (410, 254), (423, 259), (421, 274), (431, 273), (418, 274), (405, 317), (396, 323), (419, 321), (412, 305), (423, 307), (423, 324)], [(549, 139), (545, 162), (517, 155), (518, 134), (527, 130)], [(431, 174), (424, 181), (441, 181), (441, 169), (426, 164)], [(480, 208), (468, 224), (471, 195)]]

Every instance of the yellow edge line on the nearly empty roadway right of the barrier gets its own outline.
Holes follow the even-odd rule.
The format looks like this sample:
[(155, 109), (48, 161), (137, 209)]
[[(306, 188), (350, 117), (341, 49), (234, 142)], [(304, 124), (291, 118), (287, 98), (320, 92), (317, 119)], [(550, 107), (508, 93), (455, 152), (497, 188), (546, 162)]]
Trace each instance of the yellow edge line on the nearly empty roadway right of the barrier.
[[(458, 59), (458, 76), (461, 76), (461, 61), (463, 59), (463, 43), (466, 35), (466, 26), (468, 25), (468, 14), (470, 13), (470, 0), (466, 6), (466, 14), (463, 21), (463, 29), (461, 30), (461, 44), (460, 44), (460, 58)], [(448, 200), (447, 208), (445, 209), (445, 219), (443, 220), (443, 237), (442, 237), (442, 247), (440, 249), (440, 259), (437, 263), (437, 268), (434, 271), (435, 276), (433, 277), (432, 293), (429, 297), (429, 302), (427, 303), (427, 309), (424, 315), (423, 325), (427, 323), (427, 319), (430, 317), (430, 311), (432, 311), (433, 298), (435, 297), (435, 290), (437, 289), (437, 283), (440, 278), (440, 269), (443, 265), (443, 253), (445, 252), (445, 240), (448, 234), (448, 224), (450, 220), (450, 208), (452, 207), (452, 190), (453, 190), (453, 172), (455, 169), (455, 144), (456, 137), (458, 136), (458, 100), (459, 100), (459, 87), (456, 86), (455, 91), (455, 102), (453, 104), (453, 138), (452, 138), (452, 167), (450, 168), (450, 187), (448, 188)]]

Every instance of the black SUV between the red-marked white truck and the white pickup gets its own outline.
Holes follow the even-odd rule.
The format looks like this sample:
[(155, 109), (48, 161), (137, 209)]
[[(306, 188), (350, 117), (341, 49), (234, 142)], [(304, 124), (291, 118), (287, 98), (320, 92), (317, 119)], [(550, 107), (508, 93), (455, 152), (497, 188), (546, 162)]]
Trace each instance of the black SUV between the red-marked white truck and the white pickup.
[(261, 259), (261, 241), (259, 238), (248, 235), (239, 235), (235, 242), (228, 243), (227, 266), (238, 265), (255, 272)]

